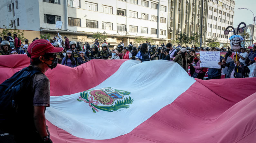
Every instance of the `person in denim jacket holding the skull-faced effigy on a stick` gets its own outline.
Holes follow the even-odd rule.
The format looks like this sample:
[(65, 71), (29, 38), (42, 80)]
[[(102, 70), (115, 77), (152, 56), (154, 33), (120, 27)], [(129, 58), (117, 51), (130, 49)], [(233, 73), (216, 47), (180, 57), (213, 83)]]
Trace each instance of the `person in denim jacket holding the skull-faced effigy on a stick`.
[(233, 60), (228, 62), (226, 62), (225, 60), (222, 60), (223, 66), (228, 67), (226, 78), (242, 78), (242, 72), (244, 71), (244, 64), (241, 61), (239, 61), (239, 59), (240, 59), (240, 54), (237, 54), (237, 60), (236, 60), (236, 54), (234, 54)]

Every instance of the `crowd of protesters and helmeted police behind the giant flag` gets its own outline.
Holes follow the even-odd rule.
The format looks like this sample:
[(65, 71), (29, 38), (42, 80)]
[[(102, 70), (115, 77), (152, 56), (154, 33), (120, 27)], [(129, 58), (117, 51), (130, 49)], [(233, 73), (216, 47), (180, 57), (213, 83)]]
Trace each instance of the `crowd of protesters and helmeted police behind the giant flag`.
[[(14, 38), (13, 38), (14, 37)], [(29, 46), (29, 41), (26, 39), (24, 44), (17, 37), (16, 34), (11, 36), (8, 33), (4, 37), (4, 41), (1, 42), (0, 55), (9, 54), (27, 54), (27, 48)], [(46, 37), (45, 37), (46, 38)], [(38, 40), (38, 38), (33, 39), (33, 41)], [(150, 42), (140, 44), (138, 47), (133, 46), (132, 42), (126, 47), (123, 41), (118, 44), (118, 47), (114, 50), (110, 50), (108, 43), (104, 40), (101, 44), (102, 50), (100, 50), (99, 39), (95, 39), (93, 44), (86, 42), (83, 46), (79, 42), (71, 41), (64, 36), (64, 41), (62, 36), (57, 32), (56, 36), (52, 39), (47, 39), (54, 47), (63, 47), (62, 52), (56, 53), (56, 58), (58, 63), (69, 66), (71, 68), (84, 64), (93, 59), (103, 59), (103, 60), (120, 60), (120, 59), (130, 59), (138, 60), (140, 62), (150, 61), (150, 60), (168, 60), (178, 63), (185, 71), (190, 71), (192, 77), (199, 79), (204, 79), (205, 74), (208, 74), (208, 79), (218, 79), (221, 78), (222, 69), (225, 78), (240, 78), (246, 77), (250, 73), (247, 66), (253, 64), (256, 58), (256, 46), (252, 49), (247, 50), (245, 47), (237, 50), (237, 60), (236, 57), (232, 57), (232, 52), (234, 52), (229, 47), (226, 49), (224, 47), (182, 47), (180, 44), (177, 47), (172, 46), (171, 43), (151, 45)], [(226, 52), (225, 58), (220, 56), (220, 61), (218, 64), (221, 68), (201, 68), (200, 67), (200, 56), (196, 55), (196, 52), (200, 51), (219, 51)], [(235, 54), (234, 54), (235, 55)]]

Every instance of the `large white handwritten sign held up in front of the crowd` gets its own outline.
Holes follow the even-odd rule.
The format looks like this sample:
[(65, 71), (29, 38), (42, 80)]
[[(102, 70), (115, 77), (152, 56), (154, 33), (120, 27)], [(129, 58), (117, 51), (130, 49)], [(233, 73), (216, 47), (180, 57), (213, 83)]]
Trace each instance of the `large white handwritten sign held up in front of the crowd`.
[(220, 52), (202, 52), (200, 51), (200, 67), (201, 68), (221, 68), (218, 65), (220, 62)]

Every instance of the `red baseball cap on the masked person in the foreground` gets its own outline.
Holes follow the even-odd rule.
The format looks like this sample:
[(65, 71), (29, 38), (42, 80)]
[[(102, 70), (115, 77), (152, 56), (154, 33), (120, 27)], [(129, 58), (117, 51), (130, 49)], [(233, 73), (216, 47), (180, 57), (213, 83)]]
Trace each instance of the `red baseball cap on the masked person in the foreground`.
[(31, 55), (31, 59), (43, 56), (46, 53), (58, 53), (64, 49), (62, 47), (56, 48), (47, 40), (35, 40), (28, 46), (28, 53)]

